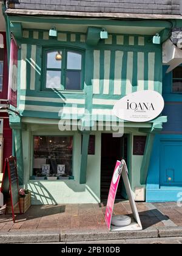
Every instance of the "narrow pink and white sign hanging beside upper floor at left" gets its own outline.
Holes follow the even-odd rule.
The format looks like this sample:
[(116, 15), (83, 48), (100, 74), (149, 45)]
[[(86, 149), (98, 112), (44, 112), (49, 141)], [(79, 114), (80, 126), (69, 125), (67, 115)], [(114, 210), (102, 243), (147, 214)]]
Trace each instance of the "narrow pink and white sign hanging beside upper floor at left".
[(10, 69), (8, 82), (8, 102), (17, 107), (17, 69), (18, 69), (18, 47), (12, 38), (10, 46)]

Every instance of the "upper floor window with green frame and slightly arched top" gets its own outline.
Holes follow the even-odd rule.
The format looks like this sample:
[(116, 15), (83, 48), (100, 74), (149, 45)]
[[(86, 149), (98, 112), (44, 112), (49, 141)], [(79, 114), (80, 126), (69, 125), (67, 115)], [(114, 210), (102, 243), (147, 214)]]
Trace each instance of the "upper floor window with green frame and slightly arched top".
[(81, 90), (83, 54), (67, 49), (46, 52), (45, 88)]

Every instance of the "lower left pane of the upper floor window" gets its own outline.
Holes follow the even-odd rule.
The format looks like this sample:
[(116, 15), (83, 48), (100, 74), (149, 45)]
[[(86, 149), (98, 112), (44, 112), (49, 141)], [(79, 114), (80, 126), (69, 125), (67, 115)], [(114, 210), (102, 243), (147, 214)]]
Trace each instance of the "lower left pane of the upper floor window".
[(61, 71), (47, 71), (46, 88), (61, 88)]

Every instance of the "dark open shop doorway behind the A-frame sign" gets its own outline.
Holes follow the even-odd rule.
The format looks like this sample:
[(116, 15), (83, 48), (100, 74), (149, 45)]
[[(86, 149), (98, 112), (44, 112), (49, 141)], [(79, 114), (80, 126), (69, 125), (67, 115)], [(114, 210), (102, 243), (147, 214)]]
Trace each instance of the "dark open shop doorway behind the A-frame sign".
[[(101, 141), (101, 202), (106, 202), (116, 160), (124, 158), (127, 163), (128, 136), (113, 138), (112, 133), (103, 133)], [(118, 187), (116, 200), (122, 197), (122, 182)]]

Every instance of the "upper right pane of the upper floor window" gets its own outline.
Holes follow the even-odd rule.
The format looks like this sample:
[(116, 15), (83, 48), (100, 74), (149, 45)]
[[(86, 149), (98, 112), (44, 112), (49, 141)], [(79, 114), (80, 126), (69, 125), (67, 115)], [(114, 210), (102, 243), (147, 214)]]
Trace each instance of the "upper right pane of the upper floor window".
[(67, 69), (81, 70), (81, 54), (67, 52)]

